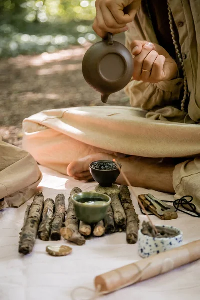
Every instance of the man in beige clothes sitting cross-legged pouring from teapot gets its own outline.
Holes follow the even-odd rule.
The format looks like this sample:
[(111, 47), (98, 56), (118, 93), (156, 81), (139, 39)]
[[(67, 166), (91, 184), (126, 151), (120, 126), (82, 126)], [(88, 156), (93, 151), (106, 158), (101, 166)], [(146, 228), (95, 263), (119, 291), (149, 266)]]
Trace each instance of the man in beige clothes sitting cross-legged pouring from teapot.
[[(42, 112), (24, 121), (24, 147), (41, 164), (78, 180), (91, 179), (91, 161), (115, 158), (133, 186), (198, 199), (199, 10), (198, 0), (96, 0), (96, 33), (127, 31), (134, 72), (125, 90), (131, 106), (145, 111), (106, 106)], [(121, 175), (117, 183), (125, 183)]]

